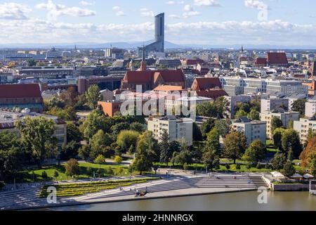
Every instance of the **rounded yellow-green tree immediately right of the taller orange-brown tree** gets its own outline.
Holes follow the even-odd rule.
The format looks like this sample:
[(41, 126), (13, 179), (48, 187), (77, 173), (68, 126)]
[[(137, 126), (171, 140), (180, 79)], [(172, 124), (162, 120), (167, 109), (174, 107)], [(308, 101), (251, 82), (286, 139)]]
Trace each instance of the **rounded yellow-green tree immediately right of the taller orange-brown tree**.
[(267, 148), (265, 148), (265, 145), (260, 140), (256, 140), (247, 148), (243, 159), (249, 162), (259, 162), (265, 158), (266, 154)]

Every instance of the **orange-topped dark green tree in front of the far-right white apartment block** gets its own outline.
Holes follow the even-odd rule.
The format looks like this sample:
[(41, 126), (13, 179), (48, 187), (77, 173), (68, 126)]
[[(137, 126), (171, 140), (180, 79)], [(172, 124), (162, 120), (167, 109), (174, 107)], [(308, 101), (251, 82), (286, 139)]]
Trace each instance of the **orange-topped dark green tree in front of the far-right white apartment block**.
[(283, 132), (281, 143), (284, 153), (289, 153), (290, 148), (293, 150), (294, 158), (298, 158), (303, 151), (300, 136), (294, 129), (287, 129)]

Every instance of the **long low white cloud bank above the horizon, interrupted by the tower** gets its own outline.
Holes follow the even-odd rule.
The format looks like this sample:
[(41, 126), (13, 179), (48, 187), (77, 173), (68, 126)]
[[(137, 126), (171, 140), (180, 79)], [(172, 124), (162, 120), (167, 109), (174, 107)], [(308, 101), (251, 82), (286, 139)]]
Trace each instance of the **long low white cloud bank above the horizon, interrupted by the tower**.
[[(0, 20), (1, 44), (13, 43), (72, 43), (145, 41), (154, 35), (154, 23), (101, 24), (58, 23), (55, 21), (29, 19)], [(263, 22), (225, 21), (221, 23), (171, 23), (166, 24), (168, 41), (176, 44), (262, 44), (315, 46), (315, 24), (295, 24), (281, 20)], [(49, 34), (49, 35), (47, 35)], [(241, 35), (242, 34), (242, 35)]]

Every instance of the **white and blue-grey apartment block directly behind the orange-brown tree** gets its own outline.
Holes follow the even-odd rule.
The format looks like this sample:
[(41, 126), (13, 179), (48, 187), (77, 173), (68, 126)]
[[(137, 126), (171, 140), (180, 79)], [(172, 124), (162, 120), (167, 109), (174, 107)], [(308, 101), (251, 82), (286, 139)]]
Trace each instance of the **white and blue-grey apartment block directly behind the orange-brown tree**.
[(263, 121), (251, 121), (246, 117), (239, 118), (232, 122), (232, 130), (244, 133), (248, 145), (260, 140), (264, 145), (267, 141), (267, 123)]

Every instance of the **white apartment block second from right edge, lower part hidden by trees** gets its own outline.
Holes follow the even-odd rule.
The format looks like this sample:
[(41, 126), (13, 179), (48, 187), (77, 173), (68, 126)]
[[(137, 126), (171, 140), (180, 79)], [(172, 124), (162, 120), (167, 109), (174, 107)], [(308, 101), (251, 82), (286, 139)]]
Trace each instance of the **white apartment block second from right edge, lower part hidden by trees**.
[(265, 111), (260, 114), (261, 121), (265, 121), (267, 123), (267, 136), (269, 139), (272, 139), (271, 132), (271, 120), (272, 117), (278, 117), (283, 124), (283, 127), (288, 127), (290, 121), (298, 121), (300, 119), (300, 113), (298, 112), (285, 112), (279, 110), (279, 113), (272, 111)]

